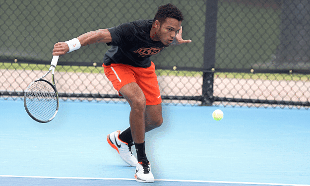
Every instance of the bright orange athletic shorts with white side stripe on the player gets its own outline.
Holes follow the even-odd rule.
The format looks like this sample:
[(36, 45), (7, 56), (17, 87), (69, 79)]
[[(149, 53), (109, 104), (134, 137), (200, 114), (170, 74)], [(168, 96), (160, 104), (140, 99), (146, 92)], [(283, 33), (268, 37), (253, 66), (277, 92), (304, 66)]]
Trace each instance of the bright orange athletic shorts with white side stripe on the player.
[(107, 78), (112, 82), (113, 87), (119, 92), (120, 89), (128, 83), (137, 83), (142, 89), (146, 105), (158, 105), (162, 102), (157, 76), (155, 74), (155, 65), (147, 68), (134, 67), (127, 64), (111, 64), (104, 67)]

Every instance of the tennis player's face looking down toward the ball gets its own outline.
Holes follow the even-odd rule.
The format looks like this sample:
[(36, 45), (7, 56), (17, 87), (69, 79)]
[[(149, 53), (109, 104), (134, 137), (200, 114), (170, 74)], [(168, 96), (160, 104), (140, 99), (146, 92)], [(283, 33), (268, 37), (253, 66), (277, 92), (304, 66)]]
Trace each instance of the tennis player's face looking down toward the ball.
[(167, 17), (166, 21), (160, 24), (157, 32), (158, 39), (166, 46), (169, 46), (181, 29), (182, 21)]

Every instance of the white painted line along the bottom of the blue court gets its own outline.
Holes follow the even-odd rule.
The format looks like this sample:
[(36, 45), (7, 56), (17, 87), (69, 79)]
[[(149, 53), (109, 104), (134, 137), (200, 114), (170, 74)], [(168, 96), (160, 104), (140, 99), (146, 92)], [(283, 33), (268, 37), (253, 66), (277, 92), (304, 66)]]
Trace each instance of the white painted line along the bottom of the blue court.
[[(14, 176), (14, 175), (0, 175), (0, 177), (11, 177), (11, 178), (54, 178), (54, 179), (80, 179), (80, 180), (135, 180), (134, 178), (87, 178), (87, 177)], [(219, 184), (248, 184), (248, 185), (270, 185), (270, 186), (310, 186), (310, 185), (298, 185), (298, 184), (272, 184), (272, 183), (224, 182), (224, 181), (201, 181), (201, 180), (166, 180), (166, 179), (155, 179), (155, 181), (219, 183)]]

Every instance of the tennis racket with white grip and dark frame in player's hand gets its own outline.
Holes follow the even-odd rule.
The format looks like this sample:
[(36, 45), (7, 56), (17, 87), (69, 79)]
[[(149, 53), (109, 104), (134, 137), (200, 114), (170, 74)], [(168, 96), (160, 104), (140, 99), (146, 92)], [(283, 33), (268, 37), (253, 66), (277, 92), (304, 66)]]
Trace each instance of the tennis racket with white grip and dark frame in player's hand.
[[(41, 78), (32, 81), (24, 93), (24, 106), (28, 115), (35, 121), (52, 121), (59, 108), (59, 97), (55, 85), (54, 71), (59, 56), (53, 56), (49, 71)], [(52, 71), (52, 83), (43, 79)]]

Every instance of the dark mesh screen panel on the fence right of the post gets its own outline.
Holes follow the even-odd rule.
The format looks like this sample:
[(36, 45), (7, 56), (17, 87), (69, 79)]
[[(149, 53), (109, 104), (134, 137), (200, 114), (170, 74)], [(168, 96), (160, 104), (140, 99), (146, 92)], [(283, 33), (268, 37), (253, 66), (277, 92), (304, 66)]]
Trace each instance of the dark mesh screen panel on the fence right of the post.
[(310, 1), (220, 0), (216, 68), (310, 69)]

